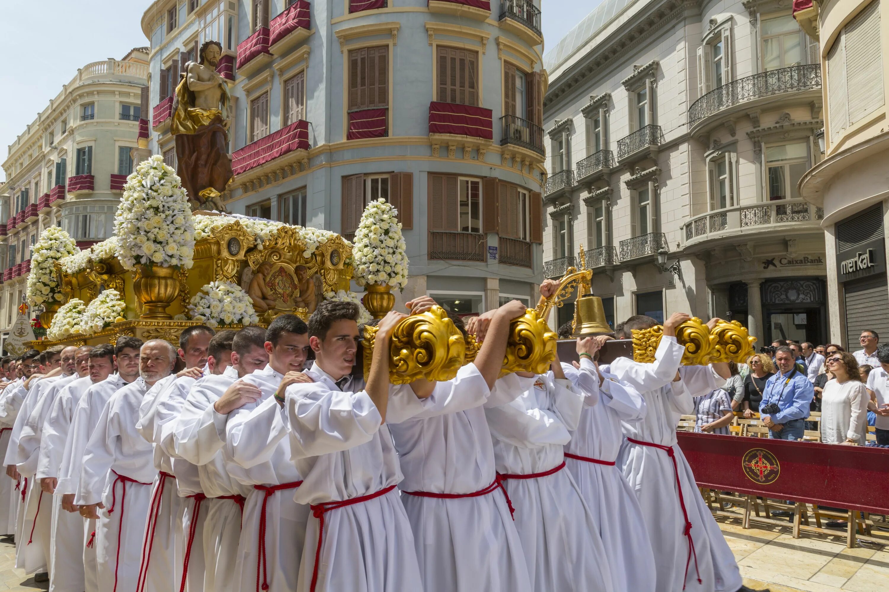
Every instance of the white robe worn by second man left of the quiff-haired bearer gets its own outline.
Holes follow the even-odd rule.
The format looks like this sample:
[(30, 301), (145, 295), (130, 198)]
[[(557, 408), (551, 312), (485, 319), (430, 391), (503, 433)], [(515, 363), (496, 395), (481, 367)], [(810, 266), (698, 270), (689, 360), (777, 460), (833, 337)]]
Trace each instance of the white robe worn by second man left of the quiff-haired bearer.
[[(212, 405), (237, 380), (237, 371), (228, 366), (222, 374), (206, 376), (188, 392), (179, 417), (169, 424), (176, 456), (197, 466), (198, 478), (207, 496), (204, 520), (204, 589), (208, 592), (240, 592), (236, 577), (238, 540), (243, 512), (241, 504), (253, 491), (233, 479), (231, 462), (223, 450), (228, 416)], [(240, 503), (230, 498), (241, 496)], [(204, 508), (201, 508), (204, 512)]]

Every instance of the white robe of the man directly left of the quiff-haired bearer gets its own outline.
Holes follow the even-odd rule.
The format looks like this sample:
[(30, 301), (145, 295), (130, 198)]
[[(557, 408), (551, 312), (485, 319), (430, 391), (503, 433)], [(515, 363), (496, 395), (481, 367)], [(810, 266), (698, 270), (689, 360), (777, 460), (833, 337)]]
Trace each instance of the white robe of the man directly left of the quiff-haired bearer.
[[(274, 486), (302, 481), (300, 471), (290, 462), (290, 443), (284, 437), (287, 430), (273, 396), (282, 379), (284, 375), (270, 365), (241, 379), (262, 392), (257, 403), (229, 413), (226, 422), (226, 453), (232, 460), (229, 471), (242, 484)], [(263, 540), (260, 540), (260, 517), (266, 492), (254, 488), (247, 495), (235, 568), (242, 590), (256, 590), (263, 582), (268, 583), (271, 592), (296, 589), (300, 570), (296, 557), (302, 555), (306, 539), (308, 505), (295, 503), (294, 491), (299, 488), (268, 495)], [(262, 545), (266, 549), (264, 573), (260, 565)]]

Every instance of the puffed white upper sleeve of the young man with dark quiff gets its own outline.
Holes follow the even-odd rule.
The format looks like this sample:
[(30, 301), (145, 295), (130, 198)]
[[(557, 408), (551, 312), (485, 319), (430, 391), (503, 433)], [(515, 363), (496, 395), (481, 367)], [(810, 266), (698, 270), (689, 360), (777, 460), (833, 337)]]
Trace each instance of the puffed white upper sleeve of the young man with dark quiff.
[(292, 459), (366, 444), (382, 424), (380, 411), (364, 390), (343, 393), (321, 382), (298, 383), (287, 387), (284, 398)]

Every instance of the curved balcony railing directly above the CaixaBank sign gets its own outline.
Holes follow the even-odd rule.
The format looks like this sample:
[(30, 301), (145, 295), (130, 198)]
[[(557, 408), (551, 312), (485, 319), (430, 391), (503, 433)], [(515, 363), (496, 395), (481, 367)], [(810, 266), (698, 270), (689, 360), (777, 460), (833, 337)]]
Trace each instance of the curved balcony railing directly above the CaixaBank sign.
[(741, 236), (811, 229), (820, 232), (824, 210), (803, 199), (776, 199), (772, 202), (735, 205), (707, 212), (685, 223), (685, 246), (715, 239), (738, 240)]

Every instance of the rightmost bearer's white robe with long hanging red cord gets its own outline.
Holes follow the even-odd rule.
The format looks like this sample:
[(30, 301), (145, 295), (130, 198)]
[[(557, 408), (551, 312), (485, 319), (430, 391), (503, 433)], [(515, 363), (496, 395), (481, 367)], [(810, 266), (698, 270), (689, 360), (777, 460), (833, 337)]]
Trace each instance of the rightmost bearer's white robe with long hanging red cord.
[[(645, 398), (645, 418), (623, 421), (624, 436), (669, 446), (674, 452), (685, 509), (692, 524), (694, 556), (685, 537), (685, 517), (679, 503), (676, 468), (667, 452), (651, 446), (624, 442), (618, 460), (629, 486), (636, 492), (648, 534), (652, 540), (658, 592), (734, 592), (741, 588), (741, 574), (732, 550), (725, 542), (707, 504), (698, 494), (692, 469), (676, 445), (679, 416), (694, 409), (692, 397), (725, 384), (709, 366), (682, 366), (684, 348), (675, 337), (664, 337), (653, 364), (639, 364), (619, 357), (603, 367)], [(677, 369), (682, 380), (673, 382)], [(688, 565), (686, 573), (686, 564)], [(700, 573), (701, 583), (698, 583)]]

